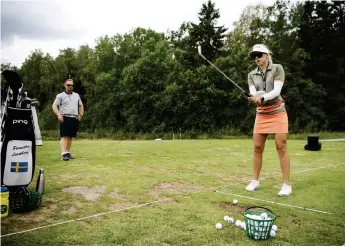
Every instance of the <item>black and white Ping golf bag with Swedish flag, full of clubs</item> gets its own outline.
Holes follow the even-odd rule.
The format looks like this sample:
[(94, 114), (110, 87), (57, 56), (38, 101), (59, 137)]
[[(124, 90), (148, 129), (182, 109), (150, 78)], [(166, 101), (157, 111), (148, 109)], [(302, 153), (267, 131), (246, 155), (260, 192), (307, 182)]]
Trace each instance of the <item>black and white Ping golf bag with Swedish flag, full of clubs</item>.
[[(36, 139), (32, 100), (21, 94), (22, 82), (14, 71), (3, 71), (7, 84), (1, 99), (1, 185), (9, 190), (28, 186), (35, 172)], [(3, 98), (5, 100), (3, 100)]]

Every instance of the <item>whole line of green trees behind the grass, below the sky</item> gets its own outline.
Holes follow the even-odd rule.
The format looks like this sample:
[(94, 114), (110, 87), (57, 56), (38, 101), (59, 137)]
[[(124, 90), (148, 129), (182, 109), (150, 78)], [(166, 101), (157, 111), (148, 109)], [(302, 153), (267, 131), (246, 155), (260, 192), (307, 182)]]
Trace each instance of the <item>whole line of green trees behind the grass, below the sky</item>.
[(35, 50), (20, 68), (2, 64), (1, 69), (18, 70), (23, 90), (40, 101), (43, 131), (57, 127), (51, 104), (63, 81), (72, 78), (85, 106), (84, 133), (110, 138), (180, 131), (190, 138), (247, 135), (255, 107), (200, 59), (197, 45), (248, 90), (247, 74), (255, 68), (248, 53), (252, 45), (264, 43), (285, 70), (282, 97), (290, 132), (344, 130), (343, 9), (342, 2), (277, 0), (271, 6), (248, 6), (227, 32), (217, 24), (215, 3), (206, 1), (198, 23), (183, 22), (167, 35), (138, 27), (99, 37), (94, 48), (65, 48), (56, 58)]

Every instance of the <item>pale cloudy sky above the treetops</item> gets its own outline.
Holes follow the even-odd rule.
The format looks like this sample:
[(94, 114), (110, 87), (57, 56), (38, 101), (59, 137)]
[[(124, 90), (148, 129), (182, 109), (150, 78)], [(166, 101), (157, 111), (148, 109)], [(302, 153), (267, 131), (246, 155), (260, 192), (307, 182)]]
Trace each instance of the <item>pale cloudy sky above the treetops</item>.
[[(206, 0), (1, 0), (1, 62), (20, 67), (35, 49), (54, 58), (60, 49), (95, 46), (104, 35), (128, 33), (136, 27), (158, 32), (177, 30), (185, 21), (198, 22)], [(218, 25), (231, 30), (243, 10), (274, 0), (213, 0)]]

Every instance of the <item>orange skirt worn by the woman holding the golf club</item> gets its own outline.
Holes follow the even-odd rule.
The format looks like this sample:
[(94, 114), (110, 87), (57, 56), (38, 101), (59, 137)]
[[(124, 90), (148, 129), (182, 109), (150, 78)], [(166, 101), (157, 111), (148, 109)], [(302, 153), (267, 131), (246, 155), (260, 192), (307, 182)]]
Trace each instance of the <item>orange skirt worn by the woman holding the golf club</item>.
[(253, 133), (288, 133), (289, 121), (286, 111), (276, 114), (257, 114)]

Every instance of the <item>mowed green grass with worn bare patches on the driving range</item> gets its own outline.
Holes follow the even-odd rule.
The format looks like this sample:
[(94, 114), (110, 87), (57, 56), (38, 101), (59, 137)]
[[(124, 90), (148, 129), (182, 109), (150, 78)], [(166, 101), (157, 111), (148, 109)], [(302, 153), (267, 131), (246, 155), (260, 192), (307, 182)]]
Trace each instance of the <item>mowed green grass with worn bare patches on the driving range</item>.
[[(304, 151), (305, 141), (293, 140), (288, 143), (292, 172), (344, 161), (342, 142), (323, 143), (323, 149), (319, 152)], [(243, 182), (243, 185), (230, 187), (238, 189), (236, 192), (243, 193), (246, 182), (251, 178), (251, 140), (82, 140), (74, 141), (72, 154), (76, 159), (68, 162), (60, 160), (57, 141), (45, 141), (37, 150), (36, 168), (37, 170), (44, 168), (47, 179), (43, 204), (36, 211), (13, 214), (3, 219), (2, 234), (128, 208), (167, 197), (175, 198), (147, 207), (5, 237), (2, 238), (5, 245), (33, 243), (35, 245), (250, 245), (253, 243), (252, 240), (246, 239), (244, 231), (239, 228), (230, 230), (226, 227), (221, 231), (215, 229), (216, 222), (223, 222), (226, 206), (229, 205), (227, 203), (233, 198), (226, 198), (212, 191), (193, 193), (238, 182)], [(341, 187), (344, 184), (343, 171), (344, 167), (339, 166), (292, 174), (294, 194), (282, 201), (305, 207), (314, 206), (315, 209), (320, 210), (324, 208), (332, 213), (341, 210), (344, 201), (342, 193), (333, 191), (343, 188)], [(269, 197), (277, 199), (281, 174), (273, 140), (269, 140), (265, 147), (262, 176), (265, 175), (270, 179), (262, 181), (262, 189), (255, 195), (267, 200)], [(30, 185), (32, 188), (35, 187), (36, 177), (37, 175)], [(334, 183), (338, 186), (334, 187)], [(328, 195), (328, 193), (332, 194)], [(179, 194), (187, 195), (179, 196)], [(333, 205), (327, 207), (328, 202)], [(242, 216), (246, 206), (256, 203), (248, 200), (241, 204), (243, 207), (237, 211), (238, 216)], [(287, 222), (292, 221), (292, 217), (297, 216), (296, 218), (302, 221), (307, 216), (312, 218), (311, 224), (320, 228), (319, 233), (314, 228), (315, 233), (304, 235), (303, 228), (305, 227), (307, 232), (309, 230), (307, 224), (300, 223), (297, 230), (295, 227), (285, 227), (286, 234), (278, 233), (276, 238), (266, 241), (272, 245), (296, 245), (294, 242), (311, 245), (310, 240), (313, 238), (324, 240), (322, 228), (327, 228), (327, 231), (334, 230), (338, 235), (339, 226), (321, 224), (320, 218), (326, 218), (325, 222), (329, 222), (331, 218), (335, 221), (338, 221), (337, 218), (339, 221), (342, 218), (344, 221), (341, 217), (343, 213), (332, 217), (334, 214), (328, 216), (314, 215), (310, 212), (306, 214), (306, 211), (272, 206), (282, 218), (286, 218)], [(289, 238), (289, 235), (302, 241)], [(93, 238), (95, 241), (92, 241)], [(303, 241), (303, 238), (306, 240)], [(334, 242), (340, 243), (338, 236), (332, 238)]]

